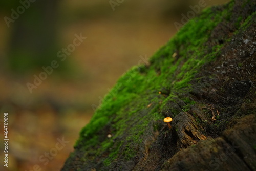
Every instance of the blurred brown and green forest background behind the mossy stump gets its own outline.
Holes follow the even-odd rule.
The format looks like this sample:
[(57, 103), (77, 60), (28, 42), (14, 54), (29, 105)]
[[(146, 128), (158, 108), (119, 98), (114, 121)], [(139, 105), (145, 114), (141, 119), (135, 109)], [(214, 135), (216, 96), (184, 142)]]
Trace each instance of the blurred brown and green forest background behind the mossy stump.
[[(113, 10), (110, 2), (116, 0), (37, 0), (25, 4), (24, 12), (20, 8), (9, 24), (4, 18), (22, 4), (1, 1), (0, 133), (2, 142), (8, 112), (9, 165), (3, 166), (1, 143), (0, 169), (33, 170), (39, 165), (60, 170), (93, 115), (92, 105), (99, 105), (127, 69), (146, 62), (164, 45), (177, 32), (174, 22), (181, 23), (181, 14), (200, 1), (130, 0)], [(205, 0), (207, 7), (225, 2)], [(57, 52), (72, 44), (75, 34), (87, 39), (61, 61)], [(31, 93), (27, 83), (53, 60), (59, 67)], [(45, 165), (39, 157), (62, 137), (69, 143)]]

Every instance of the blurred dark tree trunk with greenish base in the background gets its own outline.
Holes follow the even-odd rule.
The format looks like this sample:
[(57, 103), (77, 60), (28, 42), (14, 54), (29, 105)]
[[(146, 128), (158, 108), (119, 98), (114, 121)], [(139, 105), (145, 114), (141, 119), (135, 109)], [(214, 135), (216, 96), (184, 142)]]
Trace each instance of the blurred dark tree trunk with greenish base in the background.
[[(30, 2), (14, 23), (10, 23), (8, 58), (12, 70), (23, 73), (40, 69), (56, 57), (57, 3), (57, 0)], [(19, 6), (23, 5), (17, 2), (12, 8), (17, 12)]]

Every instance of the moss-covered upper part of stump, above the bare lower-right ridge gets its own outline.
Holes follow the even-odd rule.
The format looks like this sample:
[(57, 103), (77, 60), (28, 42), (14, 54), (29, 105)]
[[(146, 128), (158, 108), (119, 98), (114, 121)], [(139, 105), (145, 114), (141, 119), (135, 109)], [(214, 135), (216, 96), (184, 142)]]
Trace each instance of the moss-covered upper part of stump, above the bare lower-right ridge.
[[(190, 20), (150, 65), (135, 66), (118, 80), (82, 129), (62, 170), (159, 170), (180, 149), (221, 136), (233, 117), (241, 117), (243, 100), (255, 97), (247, 97), (255, 82), (253, 67), (249, 75), (240, 71), (255, 58), (253, 47), (246, 61), (230, 63), (240, 65), (240, 77), (228, 67), (219, 69), (218, 61), (230, 62), (227, 49), (233, 39), (253, 24), (254, 1), (231, 1)], [(238, 96), (230, 88), (236, 81), (235, 90), (246, 84)], [(211, 119), (214, 108), (221, 115)], [(174, 118), (172, 130), (162, 122), (167, 116)]]

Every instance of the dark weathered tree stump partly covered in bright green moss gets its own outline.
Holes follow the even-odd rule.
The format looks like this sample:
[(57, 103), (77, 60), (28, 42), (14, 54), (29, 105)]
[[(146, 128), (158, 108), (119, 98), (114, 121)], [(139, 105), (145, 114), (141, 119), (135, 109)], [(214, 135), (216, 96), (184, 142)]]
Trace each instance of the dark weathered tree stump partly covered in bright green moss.
[(247, 0), (203, 10), (127, 71), (62, 170), (255, 170), (255, 11)]

